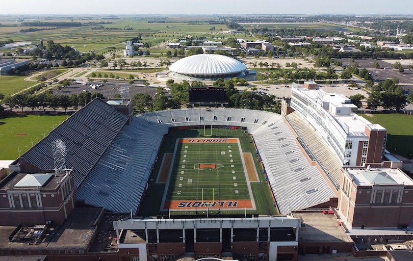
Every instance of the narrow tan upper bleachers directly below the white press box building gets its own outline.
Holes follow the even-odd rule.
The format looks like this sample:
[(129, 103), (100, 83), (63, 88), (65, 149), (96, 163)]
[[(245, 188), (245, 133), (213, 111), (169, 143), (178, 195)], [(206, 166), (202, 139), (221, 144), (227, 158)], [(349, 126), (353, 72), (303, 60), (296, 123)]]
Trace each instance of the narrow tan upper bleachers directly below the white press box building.
[(342, 172), (342, 164), (320, 134), (302, 119), (298, 112), (286, 116), (301, 140), (313, 153), (320, 166), (325, 170), (332, 184), (338, 185)]

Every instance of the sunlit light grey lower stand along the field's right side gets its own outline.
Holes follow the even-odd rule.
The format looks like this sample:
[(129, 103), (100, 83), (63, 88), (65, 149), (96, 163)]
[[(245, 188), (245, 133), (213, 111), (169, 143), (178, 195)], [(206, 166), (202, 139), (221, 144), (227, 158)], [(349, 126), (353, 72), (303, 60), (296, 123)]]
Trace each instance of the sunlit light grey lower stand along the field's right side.
[(334, 197), (316, 167), (308, 163), (284, 122), (278, 121), (265, 131), (252, 134), (281, 214)]

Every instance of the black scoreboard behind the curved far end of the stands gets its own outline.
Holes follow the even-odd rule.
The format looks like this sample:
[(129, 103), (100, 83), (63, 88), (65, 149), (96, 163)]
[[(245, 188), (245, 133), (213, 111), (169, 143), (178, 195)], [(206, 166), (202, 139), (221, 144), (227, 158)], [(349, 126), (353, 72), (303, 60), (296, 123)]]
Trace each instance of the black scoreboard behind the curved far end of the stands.
[(202, 87), (189, 88), (190, 104), (222, 104), (226, 103), (226, 88)]

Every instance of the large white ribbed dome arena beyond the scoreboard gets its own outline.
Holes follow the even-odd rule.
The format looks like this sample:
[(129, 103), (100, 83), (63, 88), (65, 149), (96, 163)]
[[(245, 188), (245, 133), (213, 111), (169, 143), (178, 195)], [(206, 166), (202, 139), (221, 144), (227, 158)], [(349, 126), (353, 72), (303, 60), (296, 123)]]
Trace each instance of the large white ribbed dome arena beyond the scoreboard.
[(193, 55), (169, 66), (175, 73), (191, 77), (233, 77), (247, 67), (240, 61), (223, 55)]

